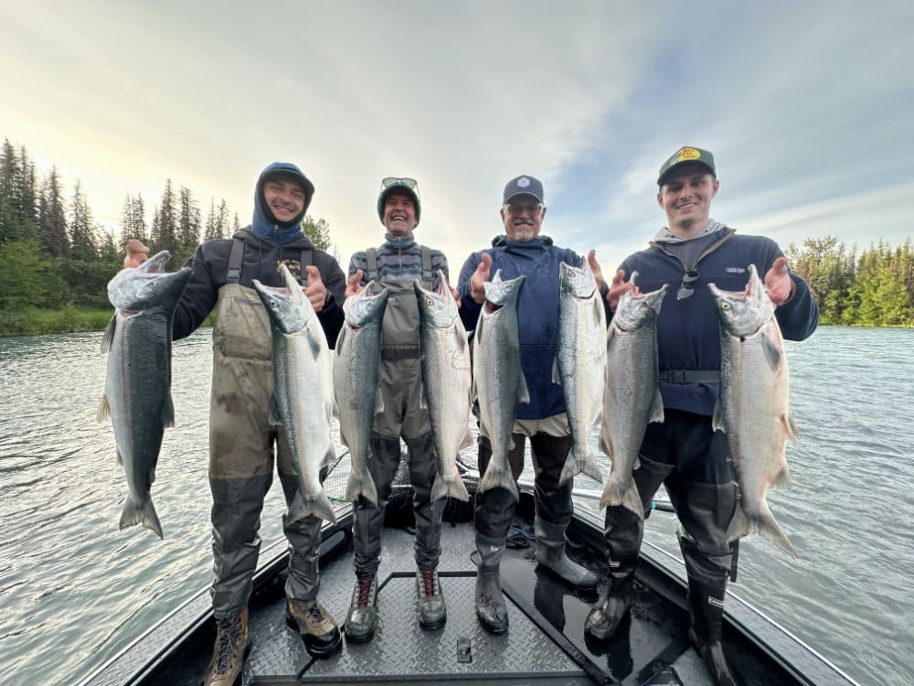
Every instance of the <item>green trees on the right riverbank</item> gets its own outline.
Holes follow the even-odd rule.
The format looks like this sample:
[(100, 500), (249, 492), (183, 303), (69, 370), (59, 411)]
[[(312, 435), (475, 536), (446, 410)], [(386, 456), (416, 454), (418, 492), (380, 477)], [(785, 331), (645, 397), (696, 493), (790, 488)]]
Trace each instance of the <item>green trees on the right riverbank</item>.
[(914, 326), (914, 249), (883, 241), (857, 252), (834, 236), (808, 238), (785, 251), (791, 269), (809, 284), (822, 324)]

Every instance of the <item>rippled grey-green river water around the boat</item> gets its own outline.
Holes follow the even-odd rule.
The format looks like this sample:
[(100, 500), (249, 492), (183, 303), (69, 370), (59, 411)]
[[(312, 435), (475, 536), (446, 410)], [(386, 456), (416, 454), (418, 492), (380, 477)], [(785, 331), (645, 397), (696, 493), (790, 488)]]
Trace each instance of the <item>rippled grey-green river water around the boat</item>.
[[(209, 331), (175, 344), (176, 426), (153, 489), (164, 541), (117, 528), (122, 469), (110, 423), (95, 421), (100, 340), (0, 338), (3, 683), (80, 681), (211, 578)], [(749, 537), (730, 588), (856, 681), (914, 683), (914, 330), (824, 327), (787, 346), (802, 435), (788, 446), (794, 487), (769, 502), (800, 557)], [(265, 544), (282, 509), (273, 488)], [(672, 515), (646, 531), (678, 555)]]

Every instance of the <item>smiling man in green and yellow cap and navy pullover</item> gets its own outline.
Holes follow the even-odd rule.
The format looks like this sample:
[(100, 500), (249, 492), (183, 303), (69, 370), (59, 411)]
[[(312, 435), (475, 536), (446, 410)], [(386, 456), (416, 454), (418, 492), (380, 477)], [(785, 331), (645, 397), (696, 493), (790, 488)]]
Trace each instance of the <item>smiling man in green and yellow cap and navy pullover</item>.
[[(754, 264), (784, 338), (812, 335), (819, 310), (809, 287), (787, 268), (778, 245), (763, 236), (737, 235), (710, 218), (720, 181), (714, 155), (682, 147), (668, 157), (657, 177), (657, 202), (668, 225), (650, 247), (629, 256), (606, 295), (615, 310), (622, 294), (638, 288), (669, 291), (657, 321), (657, 353), (664, 422), (650, 423), (639, 451), (634, 481), (650, 514), (654, 493), (664, 484), (680, 521), (679, 545), (688, 575), (689, 638), (717, 684), (739, 681), (721, 646), (721, 618), (733, 555), (727, 529), (737, 507), (727, 437), (712, 416), (720, 387), (717, 309), (708, 283), (742, 291)], [(626, 279), (629, 279), (626, 281)], [(610, 638), (631, 604), (630, 590), (643, 537), (643, 520), (622, 506), (606, 509), (609, 585), (590, 609), (584, 627), (594, 638)]]

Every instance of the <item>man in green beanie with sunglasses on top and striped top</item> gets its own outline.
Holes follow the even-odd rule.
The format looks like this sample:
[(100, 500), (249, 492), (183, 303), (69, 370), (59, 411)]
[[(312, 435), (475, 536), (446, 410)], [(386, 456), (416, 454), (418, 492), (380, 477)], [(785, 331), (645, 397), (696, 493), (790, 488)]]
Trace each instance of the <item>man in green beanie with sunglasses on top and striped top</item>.
[(388, 288), (381, 329), (378, 374), (385, 411), (371, 430), (368, 471), (377, 488), (377, 506), (359, 497), (354, 506), (353, 567), (356, 587), (345, 618), (350, 640), (367, 641), (377, 623), (377, 566), (381, 552), (384, 506), (400, 464), (400, 437), (409, 451), (409, 478), (416, 517), (416, 591), (420, 625), (436, 629), (447, 618), (438, 579), (443, 499), (432, 502), (437, 460), (428, 410), (420, 405), (422, 368), (419, 348), (419, 307), (413, 282), (438, 288), (438, 270), (448, 275), (444, 254), (420, 245), (413, 237), (419, 224), (419, 185), (409, 177), (387, 177), (377, 197), (377, 217), (387, 229), (384, 244), (356, 252), (349, 263), (345, 296), (359, 293), (369, 281)]

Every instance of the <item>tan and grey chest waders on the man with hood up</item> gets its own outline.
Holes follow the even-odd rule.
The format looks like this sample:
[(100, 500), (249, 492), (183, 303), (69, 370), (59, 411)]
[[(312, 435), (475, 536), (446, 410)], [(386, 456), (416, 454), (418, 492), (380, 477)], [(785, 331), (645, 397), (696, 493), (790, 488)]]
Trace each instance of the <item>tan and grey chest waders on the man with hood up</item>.
[[(273, 450), (286, 504), (298, 489), (289, 442), (270, 423), (273, 392), (270, 322), (256, 292), (239, 284), (244, 241), (233, 241), (227, 284), (219, 289), (213, 327), (209, 403), (209, 486), (213, 494), (211, 594), (217, 618), (248, 604), (260, 552), (260, 511), (271, 487)], [(311, 251), (302, 251), (302, 273)], [(283, 524), (285, 517), (283, 516)], [(292, 546), (286, 595), (313, 603), (318, 591), (320, 520), (283, 526)]]

